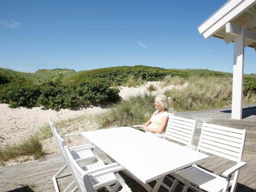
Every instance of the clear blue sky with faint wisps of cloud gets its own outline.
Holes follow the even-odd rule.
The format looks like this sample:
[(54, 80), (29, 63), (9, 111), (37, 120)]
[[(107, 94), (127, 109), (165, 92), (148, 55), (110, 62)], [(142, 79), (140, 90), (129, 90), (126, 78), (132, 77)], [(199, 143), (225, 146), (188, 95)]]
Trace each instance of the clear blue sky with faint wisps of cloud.
[[(76, 71), (145, 65), (232, 72), (233, 44), (197, 27), (226, 1), (1, 1), (0, 67)], [(256, 73), (245, 49), (245, 73)]]

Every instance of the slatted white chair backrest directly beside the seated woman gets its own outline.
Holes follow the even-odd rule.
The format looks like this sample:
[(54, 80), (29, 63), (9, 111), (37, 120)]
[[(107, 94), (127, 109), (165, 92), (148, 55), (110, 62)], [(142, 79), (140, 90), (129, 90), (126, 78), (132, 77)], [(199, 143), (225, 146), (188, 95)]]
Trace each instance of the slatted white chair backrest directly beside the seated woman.
[(185, 145), (192, 145), (196, 131), (197, 120), (170, 115), (164, 139), (172, 139)]

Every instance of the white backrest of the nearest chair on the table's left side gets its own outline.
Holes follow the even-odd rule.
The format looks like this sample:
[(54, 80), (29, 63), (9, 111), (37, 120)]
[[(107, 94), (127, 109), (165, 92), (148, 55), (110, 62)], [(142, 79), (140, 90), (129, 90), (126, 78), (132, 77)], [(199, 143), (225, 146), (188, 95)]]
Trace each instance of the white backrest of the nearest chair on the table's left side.
[(64, 147), (65, 154), (68, 160), (68, 166), (72, 172), (76, 185), (81, 192), (94, 192), (91, 179), (86, 172), (77, 164), (77, 162), (72, 157), (69, 147)]

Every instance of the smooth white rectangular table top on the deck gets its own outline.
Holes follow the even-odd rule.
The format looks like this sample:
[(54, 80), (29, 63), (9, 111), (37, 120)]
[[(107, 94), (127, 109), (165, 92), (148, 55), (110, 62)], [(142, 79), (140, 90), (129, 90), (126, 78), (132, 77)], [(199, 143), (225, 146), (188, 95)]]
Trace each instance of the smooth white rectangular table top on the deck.
[(128, 126), (83, 132), (82, 135), (143, 183), (208, 157)]

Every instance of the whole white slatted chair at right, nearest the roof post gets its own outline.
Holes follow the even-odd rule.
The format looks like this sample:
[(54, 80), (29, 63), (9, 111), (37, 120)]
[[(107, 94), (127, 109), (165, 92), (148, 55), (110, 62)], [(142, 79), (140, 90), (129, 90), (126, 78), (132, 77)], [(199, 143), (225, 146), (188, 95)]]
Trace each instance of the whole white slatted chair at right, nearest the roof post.
[[(209, 123), (203, 123), (197, 151), (214, 154), (232, 161), (236, 165), (227, 169), (220, 177), (207, 170), (193, 165), (184, 170), (176, 172), (173, 186), (169, 191), (174, 191), (178, 180), (184, 183), (183, 192), (188, 187), (202, 191), (227, 191), (231, 186), (231, 192), (236, 190), (240, 169), (246, 166), (242, 161), (246, 130), (238, 130)], [(234, 174), (233, 180), (231, 175)]]

